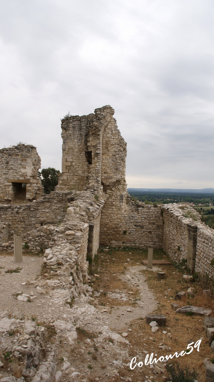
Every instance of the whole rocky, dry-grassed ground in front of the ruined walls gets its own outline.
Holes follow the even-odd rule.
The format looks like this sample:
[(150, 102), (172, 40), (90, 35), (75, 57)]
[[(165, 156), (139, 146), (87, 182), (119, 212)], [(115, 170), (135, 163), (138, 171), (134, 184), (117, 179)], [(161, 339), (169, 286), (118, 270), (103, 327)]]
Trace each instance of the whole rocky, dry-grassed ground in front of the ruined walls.
[[(170, 305), (177, 291), (189, 287), (182, 273), (167, 265), (162, 267), (166, 279), (157, 280), (158, 269), (148, 271), (141, 264), (145, 251), (108, 249), (101, 248), (85, 294), (74, 301), (63, 283), (51, 286), (57, 285), (56, 272), (41, 273), (43, 257), (28, 254), (21, 264), (14, 264), (8, 254), (0, 258), (1, 378), (49, 382), (57, 369), (57, 382), (168, 381), (165, 363), (159, 362), (157, 369), (144, 365), (131, 370), (131, 359), (136, 356), (139, 362), (147, 353), (165, 356), (185, 350), (190, 338), (201, 338), (200, 352), (179, 362), (198, 368), (198, 381), (205, 381), (203, 359), (212, 358), (212, 352), (203, 320), (178, 317)], [(154, 256), (165, 255), (157, 251)], [(7, 272), (17, 267), (18, 273)], [(152, 312), (167, 316), (166, 327), (153, 334), (145, 323)]]

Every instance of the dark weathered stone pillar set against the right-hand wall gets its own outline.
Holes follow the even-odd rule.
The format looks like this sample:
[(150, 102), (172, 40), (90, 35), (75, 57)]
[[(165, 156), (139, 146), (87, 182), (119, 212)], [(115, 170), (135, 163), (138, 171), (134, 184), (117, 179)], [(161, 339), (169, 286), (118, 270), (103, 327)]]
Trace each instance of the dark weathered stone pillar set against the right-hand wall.
[(188, 229), (188, 245), (187, 245), (187, 267), (190, 268), (191, 274), (195, 272), (197, 229), (195, 222), (187, 223)]

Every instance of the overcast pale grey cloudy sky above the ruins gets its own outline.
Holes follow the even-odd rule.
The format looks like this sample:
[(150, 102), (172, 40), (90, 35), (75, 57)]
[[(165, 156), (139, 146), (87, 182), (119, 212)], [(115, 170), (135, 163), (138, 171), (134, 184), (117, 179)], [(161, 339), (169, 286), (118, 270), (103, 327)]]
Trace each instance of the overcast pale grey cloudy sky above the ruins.
[(0, 2), (0, 148), (61, 170), (61, 118), (111, 105), (134, 188), (214, 188), (213, 0)]

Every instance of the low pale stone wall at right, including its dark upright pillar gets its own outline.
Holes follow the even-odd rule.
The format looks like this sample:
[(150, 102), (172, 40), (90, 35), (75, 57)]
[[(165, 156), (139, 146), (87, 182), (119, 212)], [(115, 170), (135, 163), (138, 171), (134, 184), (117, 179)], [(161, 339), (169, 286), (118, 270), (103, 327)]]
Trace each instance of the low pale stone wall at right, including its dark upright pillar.
[(192, 207), (174, 203), (165, 204), (161, 209), (164, 251), (176, 262), (188, 258), (192, 273), (214, 276), (214, 266), (211, 265), (214, 259), (214, 230), (201, 222), (200, 215)]

